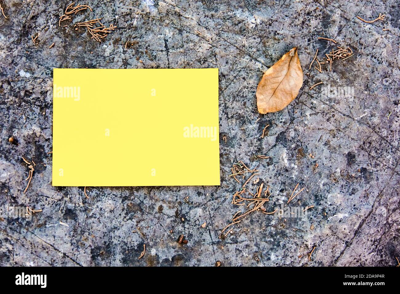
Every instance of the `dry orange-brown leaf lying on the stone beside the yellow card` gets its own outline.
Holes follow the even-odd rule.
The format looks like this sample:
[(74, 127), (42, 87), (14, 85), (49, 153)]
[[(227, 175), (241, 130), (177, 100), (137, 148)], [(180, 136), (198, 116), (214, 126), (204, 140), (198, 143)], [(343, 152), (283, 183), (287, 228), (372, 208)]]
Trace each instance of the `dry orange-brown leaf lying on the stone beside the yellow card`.
[(282, 110), (296, 98), (302, 84), (303, 71), (294, 47), (268, 68), (258, 84), (258, 112), (265, 114)]

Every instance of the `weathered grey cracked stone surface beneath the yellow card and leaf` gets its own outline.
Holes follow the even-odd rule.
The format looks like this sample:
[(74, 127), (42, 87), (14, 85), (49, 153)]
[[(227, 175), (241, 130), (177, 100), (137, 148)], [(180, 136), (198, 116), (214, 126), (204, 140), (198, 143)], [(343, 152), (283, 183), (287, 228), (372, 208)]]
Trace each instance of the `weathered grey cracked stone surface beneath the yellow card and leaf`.
[[(79, 12), (66, 27), (58, 26), (65, 1), (0, 3), (8, 16), (0, 17), (0, 204), (42, 209), (31, 221), (0, 219), (0, 265), (397, 264), (396, 0), (87, 1), (93, 12)], [(355, 17), (372, 20), (379, 13), (385, 19), (372, 24)], [(73, 27), (96, 16), (118, 26), (101, 44)], [(316, 49), (322, 61), (333, 48), (318, 36), (349, 46), (354, 56), (334, 62), (332, 72), (326, 64), (322, 73), (309, 70)], [(304, 71), (298, 97), (280, 112), (258, 114), (255, 92), (263, 72), (294, 46)], [(47, 154), (52, 69), (86, 67), (219, 68), (221, 186), (88, 187), (89, 199), (84, 187), (53, 187)], [(320, 81), (324, 85), (309, 90)], [(354, 96), (324, 97), (328, 85), (354, 87)], [(258, 154), (271, 157), (257, 160)], [(22, 156), (36, 163), (26, 194)], [(314, 208), (305, 219), (253, 212), (224, 238), (221, 229), (231, 216), (246, 210), (231, 204), (246, 180), (239, 184), (229, 176), (239, 160), (260, 171), (258, 184), (270, 186), (268, 211), (286, 204), (298, 182), (306, 189), (290, 205)], [(250, 191), (258, 184), (251, 182)], [(181, 234), (188, 244), (178, 244)], [(138, 260), (143, 244), (146, 254)]]

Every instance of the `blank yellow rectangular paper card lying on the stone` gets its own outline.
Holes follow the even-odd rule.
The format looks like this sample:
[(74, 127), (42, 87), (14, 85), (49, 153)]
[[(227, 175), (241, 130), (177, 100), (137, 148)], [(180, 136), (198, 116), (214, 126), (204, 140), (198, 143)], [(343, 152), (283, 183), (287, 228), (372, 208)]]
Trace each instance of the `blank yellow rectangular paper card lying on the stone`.
[(55, 68), (53, 84), (53, 186), (220, 184), (218, 68)]

